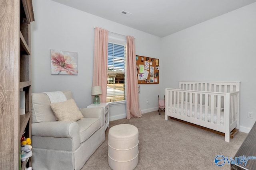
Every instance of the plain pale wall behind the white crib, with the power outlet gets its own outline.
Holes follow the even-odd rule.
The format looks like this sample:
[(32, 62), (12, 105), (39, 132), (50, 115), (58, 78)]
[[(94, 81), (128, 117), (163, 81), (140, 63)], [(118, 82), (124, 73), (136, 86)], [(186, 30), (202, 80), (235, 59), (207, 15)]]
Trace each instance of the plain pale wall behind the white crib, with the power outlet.
[(250, 130), (256, 120), (256, 3), (164, 37), (161, 48), (161, 88), (178, 87), (179, 80), (241, 81), (240, 131)]

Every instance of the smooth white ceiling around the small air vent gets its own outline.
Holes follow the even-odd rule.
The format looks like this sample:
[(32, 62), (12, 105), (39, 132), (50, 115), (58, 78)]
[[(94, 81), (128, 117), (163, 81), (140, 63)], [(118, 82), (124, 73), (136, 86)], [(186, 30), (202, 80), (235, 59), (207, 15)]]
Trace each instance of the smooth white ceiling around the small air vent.
[[(53, 0), (128, 27), (164, 37), (256, 0)], [(132, 16), (121, 14), (122, 11)]]

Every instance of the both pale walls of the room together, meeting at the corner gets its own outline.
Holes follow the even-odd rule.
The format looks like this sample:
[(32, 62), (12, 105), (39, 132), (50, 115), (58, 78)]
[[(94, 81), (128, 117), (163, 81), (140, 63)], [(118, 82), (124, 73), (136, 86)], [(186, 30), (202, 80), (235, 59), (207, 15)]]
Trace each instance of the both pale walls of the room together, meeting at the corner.
[[(64, 6), (33, 0), (32, 92), (72, 90), (78, 107), (92, 102), (94, 26), (136, 37), (136, 54), (158, 58), (160, 84), (141, 84), (142, 113), (156, 110), (157, 96), (179, 80), (241, 81), (240, 127), (256, 120), (256, 3), (164, 38)], [(50, 49), (78, 52), (78, 75), (51, 75)], [(146, 104), (146, 99), (149, 104)], [(247, 118), (247, 112), (254, 119)], [(111, 118), (112, 117), (112, 118)], [(110, 120), (126, 117), (124, 104), (110, 106)]]

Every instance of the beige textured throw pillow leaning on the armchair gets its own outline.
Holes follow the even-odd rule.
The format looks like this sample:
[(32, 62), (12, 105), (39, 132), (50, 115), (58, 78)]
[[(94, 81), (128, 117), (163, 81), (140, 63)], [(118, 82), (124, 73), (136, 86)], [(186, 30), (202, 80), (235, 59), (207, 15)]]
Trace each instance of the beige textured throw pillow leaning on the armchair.
[(74, 99), (65, 102), (51, 103), (52, 111), (57, 121), (78, 121), (84, 116), (76, 106)]

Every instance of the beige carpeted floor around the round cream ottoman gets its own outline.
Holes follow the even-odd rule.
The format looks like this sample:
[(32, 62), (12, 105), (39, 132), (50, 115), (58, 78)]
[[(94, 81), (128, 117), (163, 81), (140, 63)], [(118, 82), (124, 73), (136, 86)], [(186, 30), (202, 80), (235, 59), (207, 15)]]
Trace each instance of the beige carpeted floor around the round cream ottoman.
[[(140, 118), (110, 121), (110, 127), (132, 124), (139, 130), (139, 161), (135, 170), (230, 170), (228, 163), (216, 166), (218, 155), (233, 157), (247, 136), (238, 132), (230, 143), (224, 136), (169, 119), (157, 111)], [(85, 163), (82, 170), (110, 170), (108, 130), (105, 141)]]

